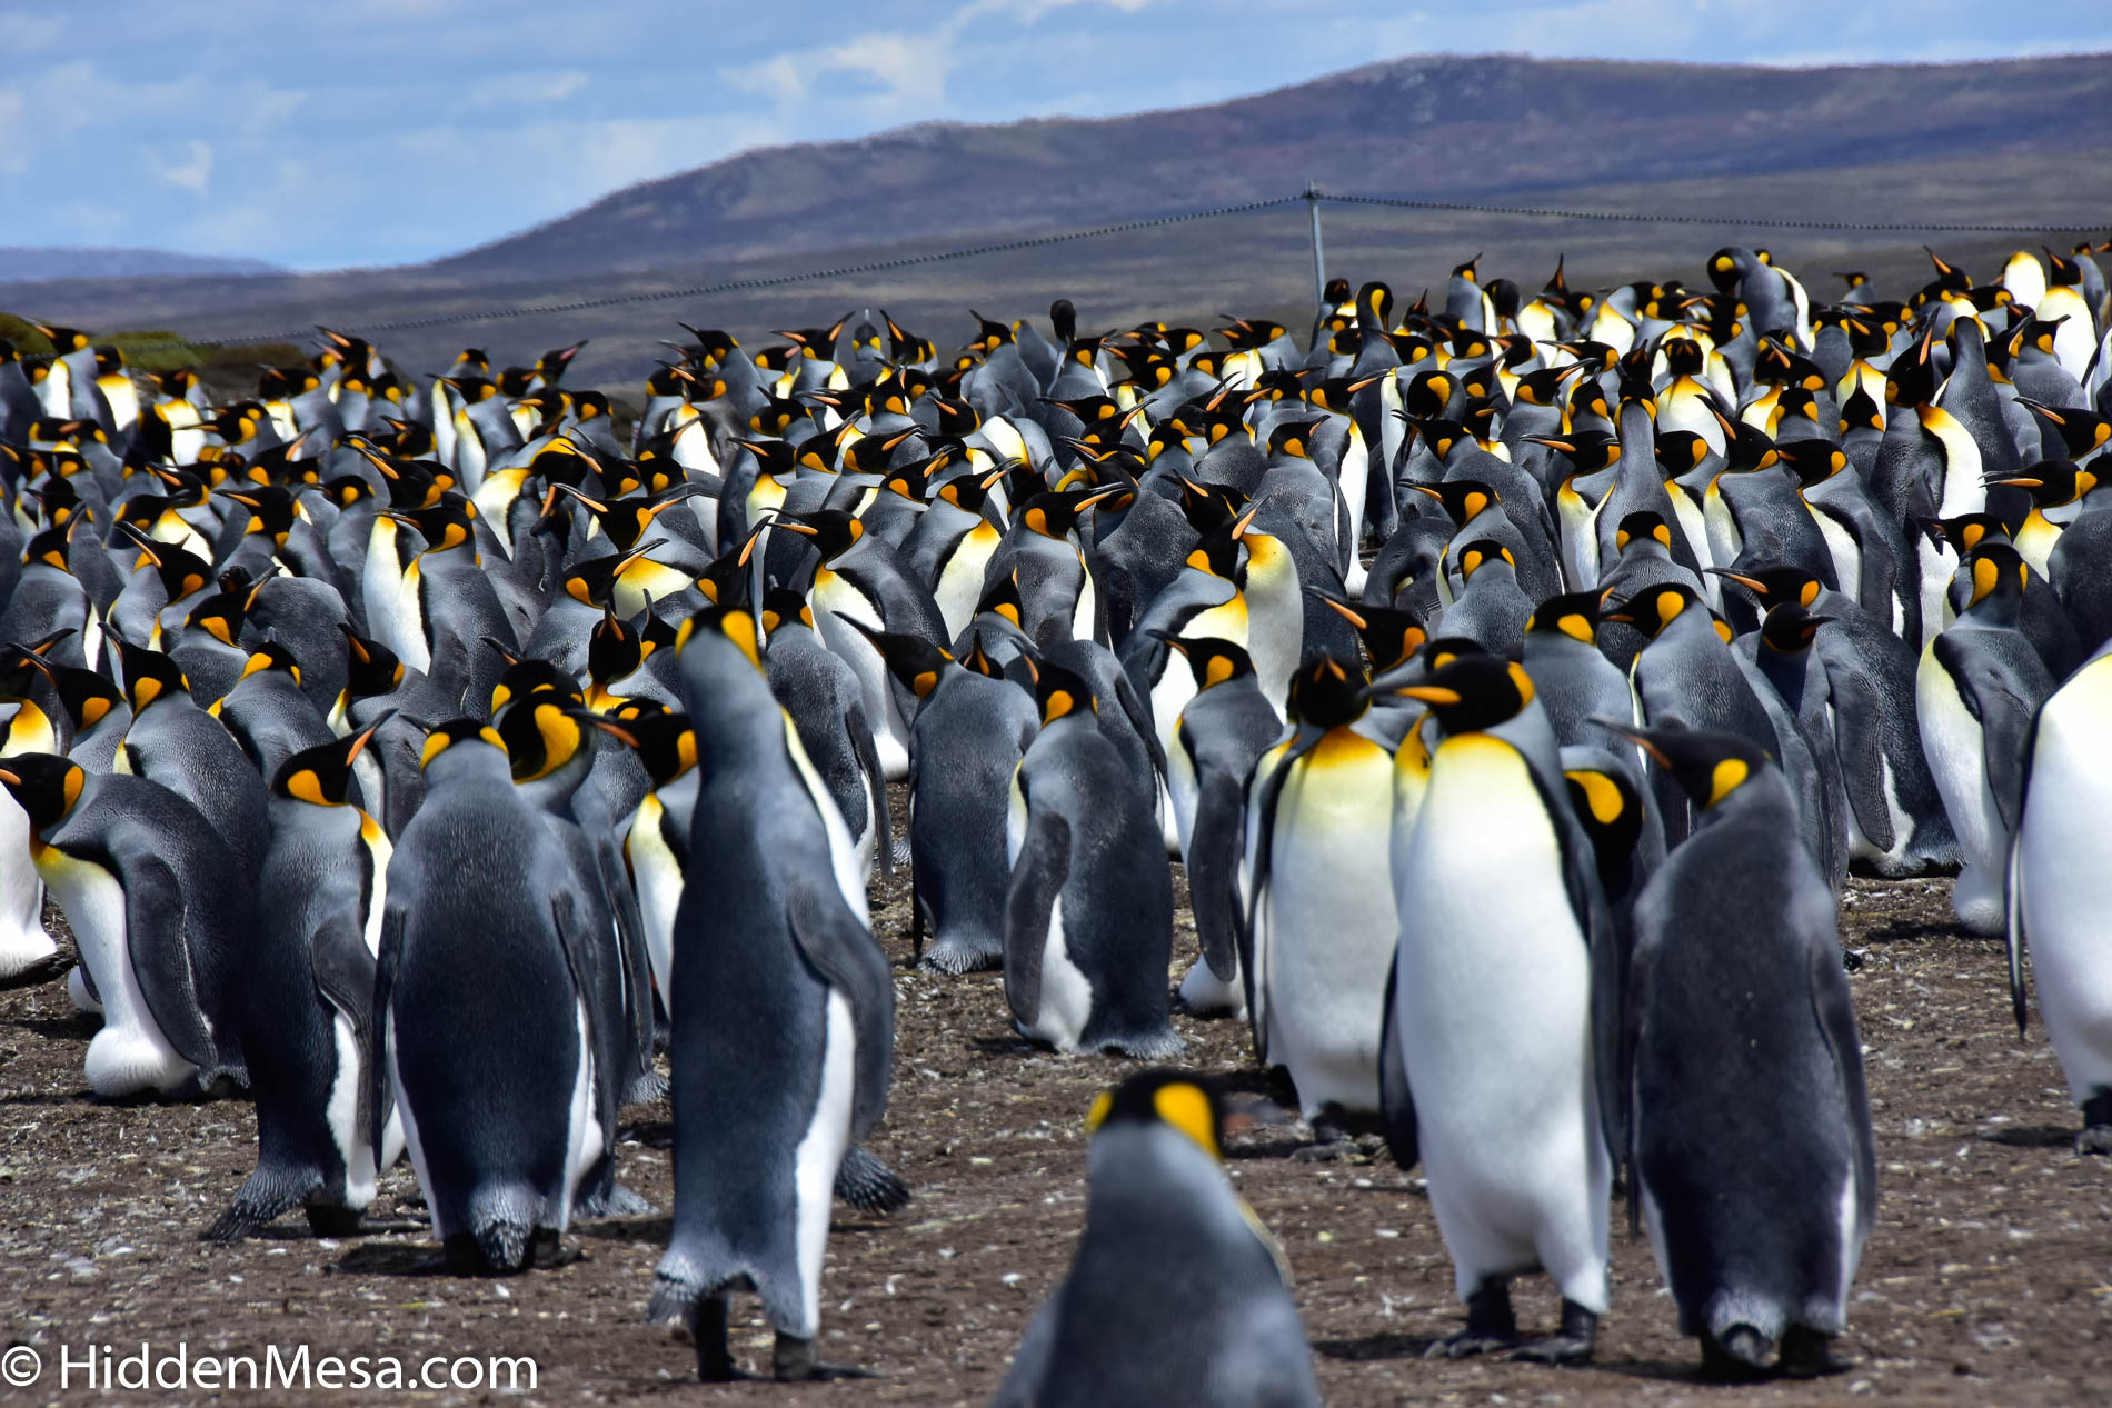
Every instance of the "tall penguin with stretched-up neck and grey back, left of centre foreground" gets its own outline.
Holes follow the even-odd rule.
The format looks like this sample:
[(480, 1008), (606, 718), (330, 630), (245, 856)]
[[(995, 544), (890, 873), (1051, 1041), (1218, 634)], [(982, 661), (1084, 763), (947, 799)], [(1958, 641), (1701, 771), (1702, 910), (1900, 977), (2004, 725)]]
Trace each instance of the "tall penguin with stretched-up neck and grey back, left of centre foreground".
[(773, 1374), (838, 1378), (857, 1370), (815, 1357), (830, 1188), (887, 1106), (893, 982), (830, 882), (834, 802), (769, 692), (756, 619), (705, 608), (676, 650), (699, 787), (674, 933), (674, 1231), (646, 1315), (689, 1324), (699, 1378), (733, 1378), (727, 1294), (746, 1277)]

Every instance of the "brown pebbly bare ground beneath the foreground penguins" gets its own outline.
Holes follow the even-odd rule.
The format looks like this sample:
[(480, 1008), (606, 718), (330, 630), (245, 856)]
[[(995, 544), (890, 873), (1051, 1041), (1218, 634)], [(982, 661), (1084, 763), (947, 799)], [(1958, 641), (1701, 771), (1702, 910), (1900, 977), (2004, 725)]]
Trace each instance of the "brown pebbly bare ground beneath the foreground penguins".
[[(74, 1370), (91, 1345), (199, 1355), (530, 1355), (528, 1402), (982, 1404), (1026, 1317), (1062, 1275), (1083, 1207), (1081, 1117), (1128, 1062), (1060, 1058), (1010, 1036), (995, 973), (910, 971), (900, 889), (874, 895), (874, 927), (898, 960), (895, 1087), (872, 1140), (914, 1188), (893, 1218), (849, 1210), (830, 1237), (824, 1353), (881, 1374), (866, 1383), (703, 1387), (676, 1334), (642, 1324), (667, 1237), (667, 1108), (625, 1112), (619, 1178), (655, 1207), (577, 1224), (583, 1258), (513, 1279), (427, 1269), (433, 1245), (408, 1167), (384, 1176), (374, 1216), (397, 1224), (327, 1241), (287, 1218), (247, 1243), (199, 1231), (253, 1163), (241, 1100), (106, 1104), (80, 1060), (93, 1024), (57, 982), (0, 992), (0, 1340), (44, 1362), (4, 1404), (106, 1402)], [(1421, 1184), (1383, 1153), (1339, 1163), (1290, 1159), (1299, 1131), (1261, 1127), (1227, 1169), (1282, 1241), (1333, 1404), (1899, 1404), (2106, 1402), (2112, 1330), (2112, 1169), (2076, 1157), (2076, 1115), (2038, 1028), (2009, 1026), (2000, 946), (1949, 925), (1945, 884), (1854, 882), (1844, 939), (1867, 1047), (1882, 1205), (1840, 1343), (1850, 1368), (1812, 1383), (1711, 1387), (1675, 1334), (1645, 1241), (1614, 1210), (1614, 1309), (1597, 1362), (1540, 1368), (1423, 1362), (1462, 1324), (1451, 1264)], [(1178, 977), (1193, 931), (1176, 941)], [(1246, 1032), (1176, 1017), (1191, 1062), (1244, 1089), (1271, 1089)], [(1544, 1279), (1521, 1283), (1527, 1330), (1552, 1326)], [(746, 1319), (746, 1330), (741, 1321)], [(769, 1328), (735, 1300), (735, 1345), (767, 1364)], [(4, 1357), (4, 1355), (0, 1355)], [(25, 1355), (4, 1357), (8, 1368)], [(97, 1364), (99, 1351), (97, 1351)], [(97, 1370), (101, 1372), (101, 1370)], [(448, 1370), (444, 1370), (446, 1374)], [(467, 1378), (469, 1370), (460, 1370)], [(101, 1383), (101, 1381), (95, 1381)], [(439, 1402), (465, 1391), (118, 1393), (135, 1402)]]

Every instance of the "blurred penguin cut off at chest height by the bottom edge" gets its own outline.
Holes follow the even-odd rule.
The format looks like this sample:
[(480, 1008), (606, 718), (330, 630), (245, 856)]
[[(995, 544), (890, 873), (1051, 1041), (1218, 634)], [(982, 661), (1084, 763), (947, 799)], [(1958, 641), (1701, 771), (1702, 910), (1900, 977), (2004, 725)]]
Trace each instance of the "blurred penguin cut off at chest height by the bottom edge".
[(993, 1408), (1318, 1406), (1282, 1252), (1225, 1178), (1223, 1096), (1145, 1070), (1086, 1117), (1086, 1231)]

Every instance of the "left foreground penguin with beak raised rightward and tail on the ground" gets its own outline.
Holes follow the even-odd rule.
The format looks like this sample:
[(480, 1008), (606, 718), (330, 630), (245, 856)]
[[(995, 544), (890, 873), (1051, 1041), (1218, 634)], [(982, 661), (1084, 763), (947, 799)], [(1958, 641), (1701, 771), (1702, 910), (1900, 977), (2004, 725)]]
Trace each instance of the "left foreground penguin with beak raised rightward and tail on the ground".
[(234, 1241), (302, 1207), (319, 1237), (359, 1231), (376, 1174), (403, 1153), (374, 1089), (374, 958), (389, 901), (389, 838), (353, 798), (353, 764), (389, 716), (287, 758), (270, 781), (270, 851), (243, 979), (243, 1049), (258, 1167), (207, 1229)]

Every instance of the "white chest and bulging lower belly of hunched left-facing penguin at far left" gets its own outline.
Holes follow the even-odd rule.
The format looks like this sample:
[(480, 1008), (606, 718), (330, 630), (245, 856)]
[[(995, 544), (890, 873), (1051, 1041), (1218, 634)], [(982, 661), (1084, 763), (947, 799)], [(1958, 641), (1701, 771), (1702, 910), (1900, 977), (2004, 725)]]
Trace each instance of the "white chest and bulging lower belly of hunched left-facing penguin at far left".
[(97, 1096), (173, 1093), (199, 1068), (175, 1053), (146, 1005), (133, 971), (125, 887), (95, 861), (44, 846), (38, 855), (51, 897), (74, 925), (80, 960), (103, 1001), (103, 1030), (89, 1043), (87, 1077)]

